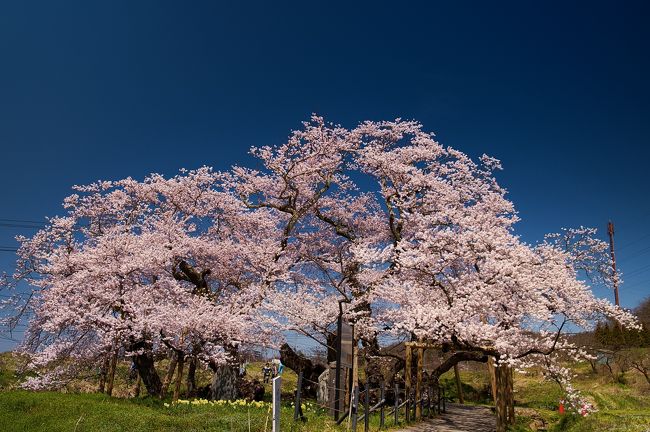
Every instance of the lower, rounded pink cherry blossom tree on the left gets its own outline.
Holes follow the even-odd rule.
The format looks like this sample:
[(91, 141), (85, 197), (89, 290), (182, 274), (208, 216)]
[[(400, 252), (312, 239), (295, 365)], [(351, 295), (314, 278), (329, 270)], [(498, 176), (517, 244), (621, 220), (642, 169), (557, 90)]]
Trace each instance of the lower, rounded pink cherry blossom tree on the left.
[(23, 348), (55, 366), (29, 385), (122, 350), (160, 394), (158, 350), (173, 349), (182, 372), (185, 356), (214, 368), (242, 342), (265, 343), (255, 304), (277, 273), (277, 221), (222, 184), (202, 168), (76, 187), (65, 217), (21, 239), (16, 279), (35, 288), (21, 307), (32, 315)]

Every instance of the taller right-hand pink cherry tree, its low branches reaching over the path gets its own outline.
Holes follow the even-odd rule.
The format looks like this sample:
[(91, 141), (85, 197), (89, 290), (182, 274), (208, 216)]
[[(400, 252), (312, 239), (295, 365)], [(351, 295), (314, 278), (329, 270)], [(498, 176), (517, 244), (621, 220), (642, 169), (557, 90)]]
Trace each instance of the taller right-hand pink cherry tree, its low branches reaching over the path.
[[(582, 280), (607, 281), (592, 231), (536, 246), (516, 236), (514, 205), (494, 177), (498, 160), (475, 163), (416, 122), (365, 122), (346, 132), (313, 121), (289, 144), (257, 153), (268, 171), (255, 173), (249, 191), (264, 196), (263, 181), (272, 183), (273, 198), (261, 205), (300, 221), (289, 243), (302, 260), (283, 305), (302, 332), (326, 333), (318, 323), (332, 322), (333, 300), (343, 301), (368, 347), (378, 348), (386, 328), (444, 346), (452, 355), (439, 376), (490, 356), (511, 365), (545, 363), (560, 351), (579, 357), (585, 353), (563, 337), (568, 328), (603, 316), (634, 325)], [(336, 175), (315, 175), (318, 152)]]

